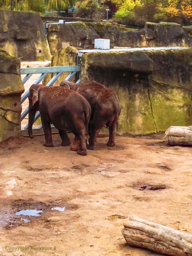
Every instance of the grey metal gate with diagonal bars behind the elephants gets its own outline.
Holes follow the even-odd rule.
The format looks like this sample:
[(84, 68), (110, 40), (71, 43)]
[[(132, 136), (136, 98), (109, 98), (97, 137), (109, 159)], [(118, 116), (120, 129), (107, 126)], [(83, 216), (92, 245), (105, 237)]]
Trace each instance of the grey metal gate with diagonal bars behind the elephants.
[[(76, 83), (80, 82), (80, 70), (81, 66), (60, 66), (60, 67), (43, 67), (43, 68), (21, 68), (21, 75), (26, 74), (26, 76), (22, 79), (22, 83), (25, 84), (27, 80), (33, 75), (33, 74), (41, 74), (34, 84), (39, 84), (44, 77), (48, 73), (56, 73), (52, 79), (46, 84), (46, 86), (52, 86), (52, 84), (58, 79), (58, 77), (63, 72), (70, 72), (70, 74), (65, 78), (65, 80), (70, 80), (73, 76), (76, 74), (78, 75), (78, 80)], [(21, 104), (27, 99), (29, 94), (29, 90), (23, 95), (21, 98)], [(29, 109), (26, 108), (25, 111), (21, 114), (21, 121), (28, 115)], [(40, 117), (39, 111), (36, 113), (34, 122)], [(58, 132), (58, 130), (53, 126), (52, 127), (52, 133)], [(44, 134), (42, 124), (38, 127), (33, 129), (33, 134)], [(24, 127), (24, 129), (21, 129), (21, 136), (27, 136), (28, 135), (28, 124)]]

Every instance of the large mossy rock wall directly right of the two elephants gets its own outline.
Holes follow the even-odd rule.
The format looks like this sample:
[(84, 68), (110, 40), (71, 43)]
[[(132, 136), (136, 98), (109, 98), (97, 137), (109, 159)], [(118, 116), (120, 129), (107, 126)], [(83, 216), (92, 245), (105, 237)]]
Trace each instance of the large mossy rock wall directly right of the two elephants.
[(81, 81), (95, 80), (118, 94), (119, 132), (164, 132), (192, 125), (192, 49), (94, 52), (83, 55)]

